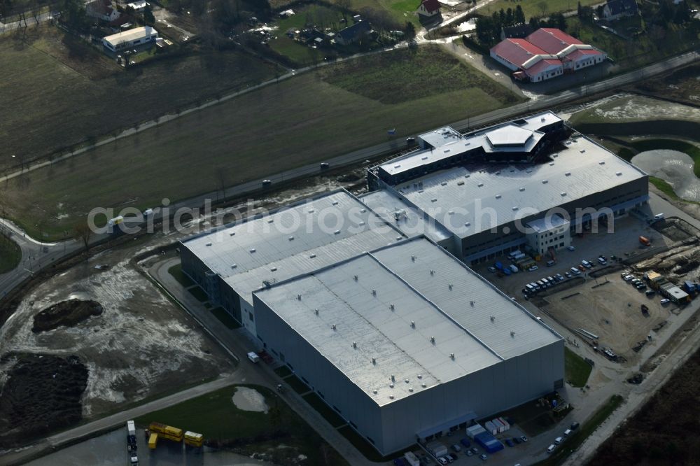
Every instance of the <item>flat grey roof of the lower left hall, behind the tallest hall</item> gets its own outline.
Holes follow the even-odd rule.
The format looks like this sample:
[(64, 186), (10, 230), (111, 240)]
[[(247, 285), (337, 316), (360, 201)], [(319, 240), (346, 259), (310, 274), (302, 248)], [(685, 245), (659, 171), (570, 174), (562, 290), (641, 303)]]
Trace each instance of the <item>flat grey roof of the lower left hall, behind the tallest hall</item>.
[(275, 283), (386, 246), (405, 235), (345, 190), (183, 241), (247, 302)]

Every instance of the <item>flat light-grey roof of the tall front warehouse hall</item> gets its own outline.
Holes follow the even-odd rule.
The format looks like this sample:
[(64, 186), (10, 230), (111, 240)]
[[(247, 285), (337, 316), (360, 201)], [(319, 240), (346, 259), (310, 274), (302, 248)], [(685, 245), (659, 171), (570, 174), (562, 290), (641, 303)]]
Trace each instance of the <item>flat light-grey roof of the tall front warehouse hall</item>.
[(561, 340), (423, 237), (255, 296), (379, 405)]

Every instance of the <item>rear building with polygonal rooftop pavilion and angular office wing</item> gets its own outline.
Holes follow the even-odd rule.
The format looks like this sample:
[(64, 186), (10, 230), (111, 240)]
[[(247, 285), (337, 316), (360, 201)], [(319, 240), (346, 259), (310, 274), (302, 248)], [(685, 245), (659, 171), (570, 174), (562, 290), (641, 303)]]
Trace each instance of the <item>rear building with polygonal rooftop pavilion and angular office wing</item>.
[[(553, 252), (568, 246), (571, 232), (649, 199), (647, 174), (552, 112), (418, 139), (420, 150), (367, 172), (380, 191), (362, 200), (406, 234), (427, 225), (428, 238), (468, 264), (527, 244)], [(559, 218), (569, 232), (557, 232)]]

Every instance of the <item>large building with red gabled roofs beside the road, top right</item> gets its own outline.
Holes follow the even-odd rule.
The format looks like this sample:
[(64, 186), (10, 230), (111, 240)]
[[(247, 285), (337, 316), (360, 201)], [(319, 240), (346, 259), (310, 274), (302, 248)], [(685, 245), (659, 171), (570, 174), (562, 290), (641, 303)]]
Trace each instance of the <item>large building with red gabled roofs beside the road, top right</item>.
[(542, 27), (524, 39), (506, 38), (491, 48), (491, 58), (517, 79), (538, 83), (603, 62), (608, 55), (560, 29)]

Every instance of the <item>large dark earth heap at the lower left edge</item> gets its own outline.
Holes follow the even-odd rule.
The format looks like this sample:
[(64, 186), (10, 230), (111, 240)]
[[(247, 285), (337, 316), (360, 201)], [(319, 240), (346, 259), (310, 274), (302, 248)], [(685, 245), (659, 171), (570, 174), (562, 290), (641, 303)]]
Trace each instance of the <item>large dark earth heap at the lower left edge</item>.
[(76, 356), (15, 355), (0, 393), (0, 444), (21, 445), (83, 417), (87, 367)]

